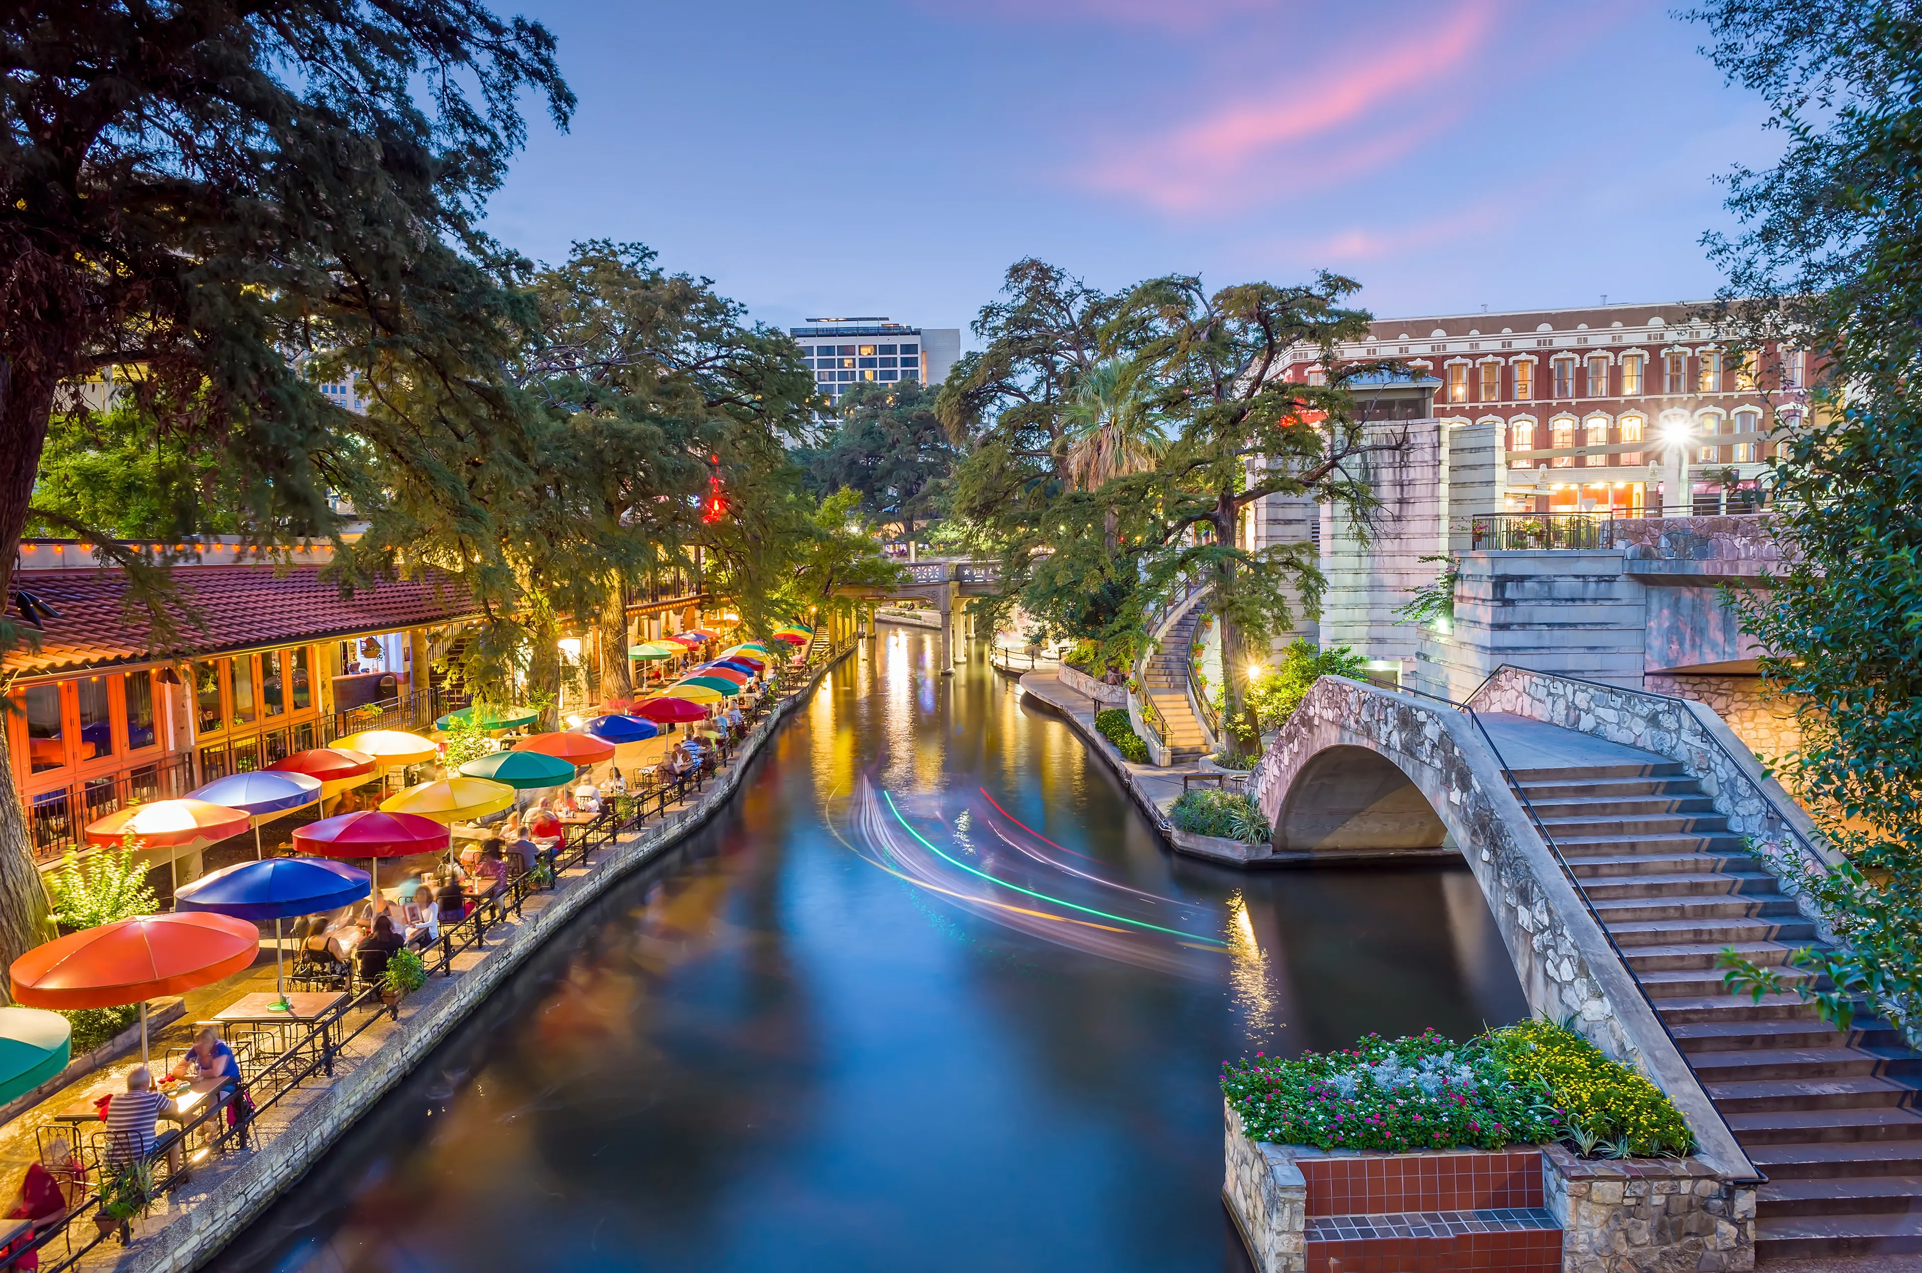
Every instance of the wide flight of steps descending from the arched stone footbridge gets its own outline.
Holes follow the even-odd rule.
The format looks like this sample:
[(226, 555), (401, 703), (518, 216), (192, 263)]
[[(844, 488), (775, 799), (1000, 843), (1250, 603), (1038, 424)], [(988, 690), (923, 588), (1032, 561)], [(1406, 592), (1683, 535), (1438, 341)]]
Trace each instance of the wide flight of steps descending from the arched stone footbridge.
[(1599, 746), (1624, 763), (1524, 767), (1528, 748), (1501, 750), (1709, 1098), (1768, 1177), (1757, 1196), (1757, 1260), (1922, 1256), (1922, 1056), (1874, 1017), (1839, 1033), (1795, 994), (1730, 994), (1714, 967), (1724, 948), (1782, 967), (1795, 948), (1820, 946), (1814, 927), (1743, 854), (1680, 763)]

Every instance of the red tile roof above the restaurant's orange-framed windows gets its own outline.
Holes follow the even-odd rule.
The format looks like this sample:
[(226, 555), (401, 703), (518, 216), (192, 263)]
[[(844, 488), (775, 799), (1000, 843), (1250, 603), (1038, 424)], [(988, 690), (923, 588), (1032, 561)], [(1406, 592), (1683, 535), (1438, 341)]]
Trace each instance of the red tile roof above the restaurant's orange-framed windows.
[[(388, 579), (375, 588), (340, 596), (321, 579), (319, 565), (296, 565), (281, 575), (271, 565), (183, 565), (173, 573), (177, 617), (200, 612), (206, 627), (181, 619), (165, 648), (150, 640), (148, 617), (127, 608), (127, 577), (117, 569), (21, 571), (13, 587), (60, 612), (46, 621), (40, 648), (25, 644), (6, 656), (17, 675), (44, 675), (163, 656), (225, 654), (273, 644), (390, 633), (417, 623), (448, 623), (479, 613), (467, 585), (429, 571), (421, 579)], [(13, 615), (12, 598), (8, 617)]]

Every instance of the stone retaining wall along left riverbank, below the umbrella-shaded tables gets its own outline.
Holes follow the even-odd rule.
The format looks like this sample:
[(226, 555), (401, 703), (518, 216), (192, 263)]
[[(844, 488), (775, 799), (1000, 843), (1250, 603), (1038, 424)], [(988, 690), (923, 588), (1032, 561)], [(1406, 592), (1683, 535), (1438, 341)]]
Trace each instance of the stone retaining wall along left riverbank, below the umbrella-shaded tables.
[(125, 1273), (188, 1273), (200, 1267), (231, 1242), (256, 1215), (346, 1135), (346, 1131), (386, 1096), (402, 1079), (432, 1052), (480, 1000), (494, 992), (521, 963), (532, 956), (552, 933), (573, 919), (588, 902), (602, 896), (625, 875), (652, 861), (702, 827), (740, 786), (748, 761), (773, 736), (780, 721), (813, 694), (821, 679), (850, 652), (830, 658), (813, 673), (807, 686), (786, 698), (775, 715), (742, 746), (736, 761), (727, 767), (700, 800), (663, 821), (621, 838), (565, 888), (548, 894), (546, 904), (519, 923), (511, 936), (486, 956), (432, 1006), (404, 1015), (400, 1027), (382, 1046), (350, 1075), (334, 1081), (300, 1115), (258, 1150), (246, 1163), (209, 1192), (208, 1198), (154, 1235), (144, 1236), (117, 1263)]

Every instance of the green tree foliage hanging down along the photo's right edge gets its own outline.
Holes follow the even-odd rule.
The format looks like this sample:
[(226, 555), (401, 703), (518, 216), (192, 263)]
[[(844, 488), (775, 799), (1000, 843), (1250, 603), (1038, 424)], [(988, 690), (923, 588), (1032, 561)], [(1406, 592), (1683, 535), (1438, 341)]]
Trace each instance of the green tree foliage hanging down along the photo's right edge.
[[(1914, 4), (1714, 0), (1707, 50), (1787, 138), (1730, 173), (1707, 237), (1743, 344), (1818, 352), (1772, 481), (1791, 563), (1741, 598), (1766, 683), (1799, 704), (1784, 761), (1849, 863), (1809, 881), (1855, 946), (1828, 971), (1922, 1027), (1922, 15)], [(1764, 367), (1766, 371), (1766, 367)], [(1743, 971), (1743, 969), (1737, 969)], [(1757, 969), (1747, 969), (1757, 971)]]

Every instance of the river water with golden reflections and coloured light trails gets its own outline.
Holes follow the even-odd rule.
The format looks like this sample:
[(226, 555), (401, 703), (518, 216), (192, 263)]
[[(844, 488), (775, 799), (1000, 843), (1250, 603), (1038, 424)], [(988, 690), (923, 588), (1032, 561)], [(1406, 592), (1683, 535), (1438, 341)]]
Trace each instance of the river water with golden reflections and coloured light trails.
[(1242, 1269), (1224, 1058), (1526, 1015), (1465, 867), (1172, 858), (936, 650), (882, 627), (215, 1267)]

